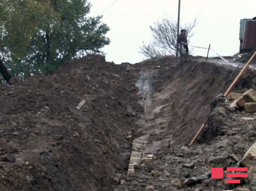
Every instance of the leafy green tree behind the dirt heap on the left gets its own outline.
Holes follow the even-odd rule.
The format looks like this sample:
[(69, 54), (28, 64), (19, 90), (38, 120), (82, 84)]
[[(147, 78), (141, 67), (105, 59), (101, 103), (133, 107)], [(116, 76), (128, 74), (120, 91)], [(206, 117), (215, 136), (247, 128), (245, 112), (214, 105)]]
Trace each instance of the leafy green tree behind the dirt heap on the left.
[[(87, 53), (101, 53), (109, 28), (101, 16), (89, 17), (87, 0), (0, 2), (0, 55), (12, 74), (52, 72)], [(1, 64), (1, 62), (0, 62)]]

